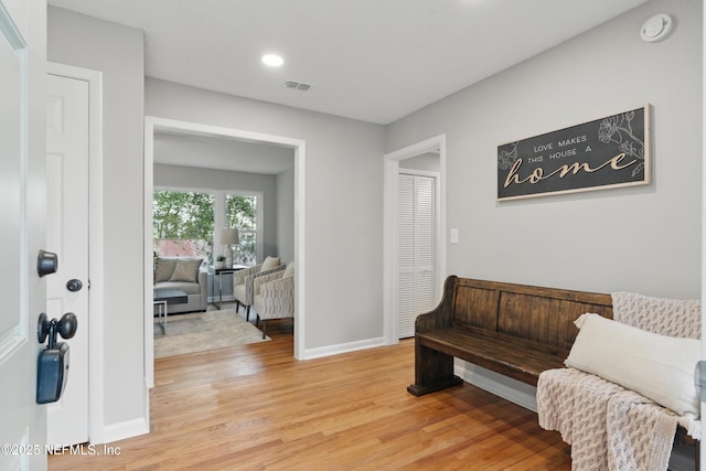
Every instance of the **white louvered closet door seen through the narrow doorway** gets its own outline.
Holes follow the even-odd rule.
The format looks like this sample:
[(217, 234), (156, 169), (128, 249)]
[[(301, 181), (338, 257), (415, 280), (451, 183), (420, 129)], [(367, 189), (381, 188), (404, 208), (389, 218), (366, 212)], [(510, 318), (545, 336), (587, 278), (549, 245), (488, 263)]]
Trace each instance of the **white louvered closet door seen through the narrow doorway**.
[(415, 319), (434, 309), (435, 180), (399, 174), (397, 193), (397, 330), (414, 336)]

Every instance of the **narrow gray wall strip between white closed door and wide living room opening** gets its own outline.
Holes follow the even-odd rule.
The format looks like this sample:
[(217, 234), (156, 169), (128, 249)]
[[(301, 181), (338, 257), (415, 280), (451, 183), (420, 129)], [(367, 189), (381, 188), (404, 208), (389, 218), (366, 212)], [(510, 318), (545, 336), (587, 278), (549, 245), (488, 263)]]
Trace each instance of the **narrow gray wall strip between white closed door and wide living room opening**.
[(106, 426), (139, 421), (146, 404), (142, 32), (50, 7), (47, 44), (50, 61), (103, 72), (105, 336), (90, 342), (104, 349)]

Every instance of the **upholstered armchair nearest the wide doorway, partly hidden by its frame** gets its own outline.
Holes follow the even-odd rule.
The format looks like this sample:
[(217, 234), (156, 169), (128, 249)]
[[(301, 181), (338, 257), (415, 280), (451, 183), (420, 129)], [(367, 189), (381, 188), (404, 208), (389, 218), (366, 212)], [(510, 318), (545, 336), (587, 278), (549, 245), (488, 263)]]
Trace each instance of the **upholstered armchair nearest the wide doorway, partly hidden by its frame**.
[(285, 270), (257, 278), (253, 289), (253, 302), (257, 312), (258, 324), (260, 320), (263, 321), (263, 339), (265, 339), (269, 319), (295, 317), (293, 264), (289, 264)]

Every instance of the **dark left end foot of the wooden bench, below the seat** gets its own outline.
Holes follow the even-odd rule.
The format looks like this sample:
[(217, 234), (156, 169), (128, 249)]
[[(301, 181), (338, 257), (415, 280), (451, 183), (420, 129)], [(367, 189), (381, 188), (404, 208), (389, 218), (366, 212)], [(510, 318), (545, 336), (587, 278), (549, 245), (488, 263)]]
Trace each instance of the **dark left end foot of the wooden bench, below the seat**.
[(415, 340), (415, 384), (407, 392), (415, 396), (463, 384), (453, 374), (453, 356), (429, 349)]

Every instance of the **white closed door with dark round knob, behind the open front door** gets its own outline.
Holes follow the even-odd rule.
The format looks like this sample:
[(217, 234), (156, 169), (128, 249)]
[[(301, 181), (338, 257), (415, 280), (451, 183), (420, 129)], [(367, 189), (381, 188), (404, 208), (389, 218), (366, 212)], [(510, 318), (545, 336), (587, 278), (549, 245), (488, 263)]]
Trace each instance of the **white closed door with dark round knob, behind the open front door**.
[[(62, 398), (47, 407), (47, 442), (88, 441), (88, 83), (47, 75), (46, 247), (58, 254), (47, 278), (46, 315), (73, 312), (76, 334), (68, 340), (71, 375)], [(78, 280), (77, 291), (67, 288)], [(75, 289), (75, 288), (74, 288)]]

